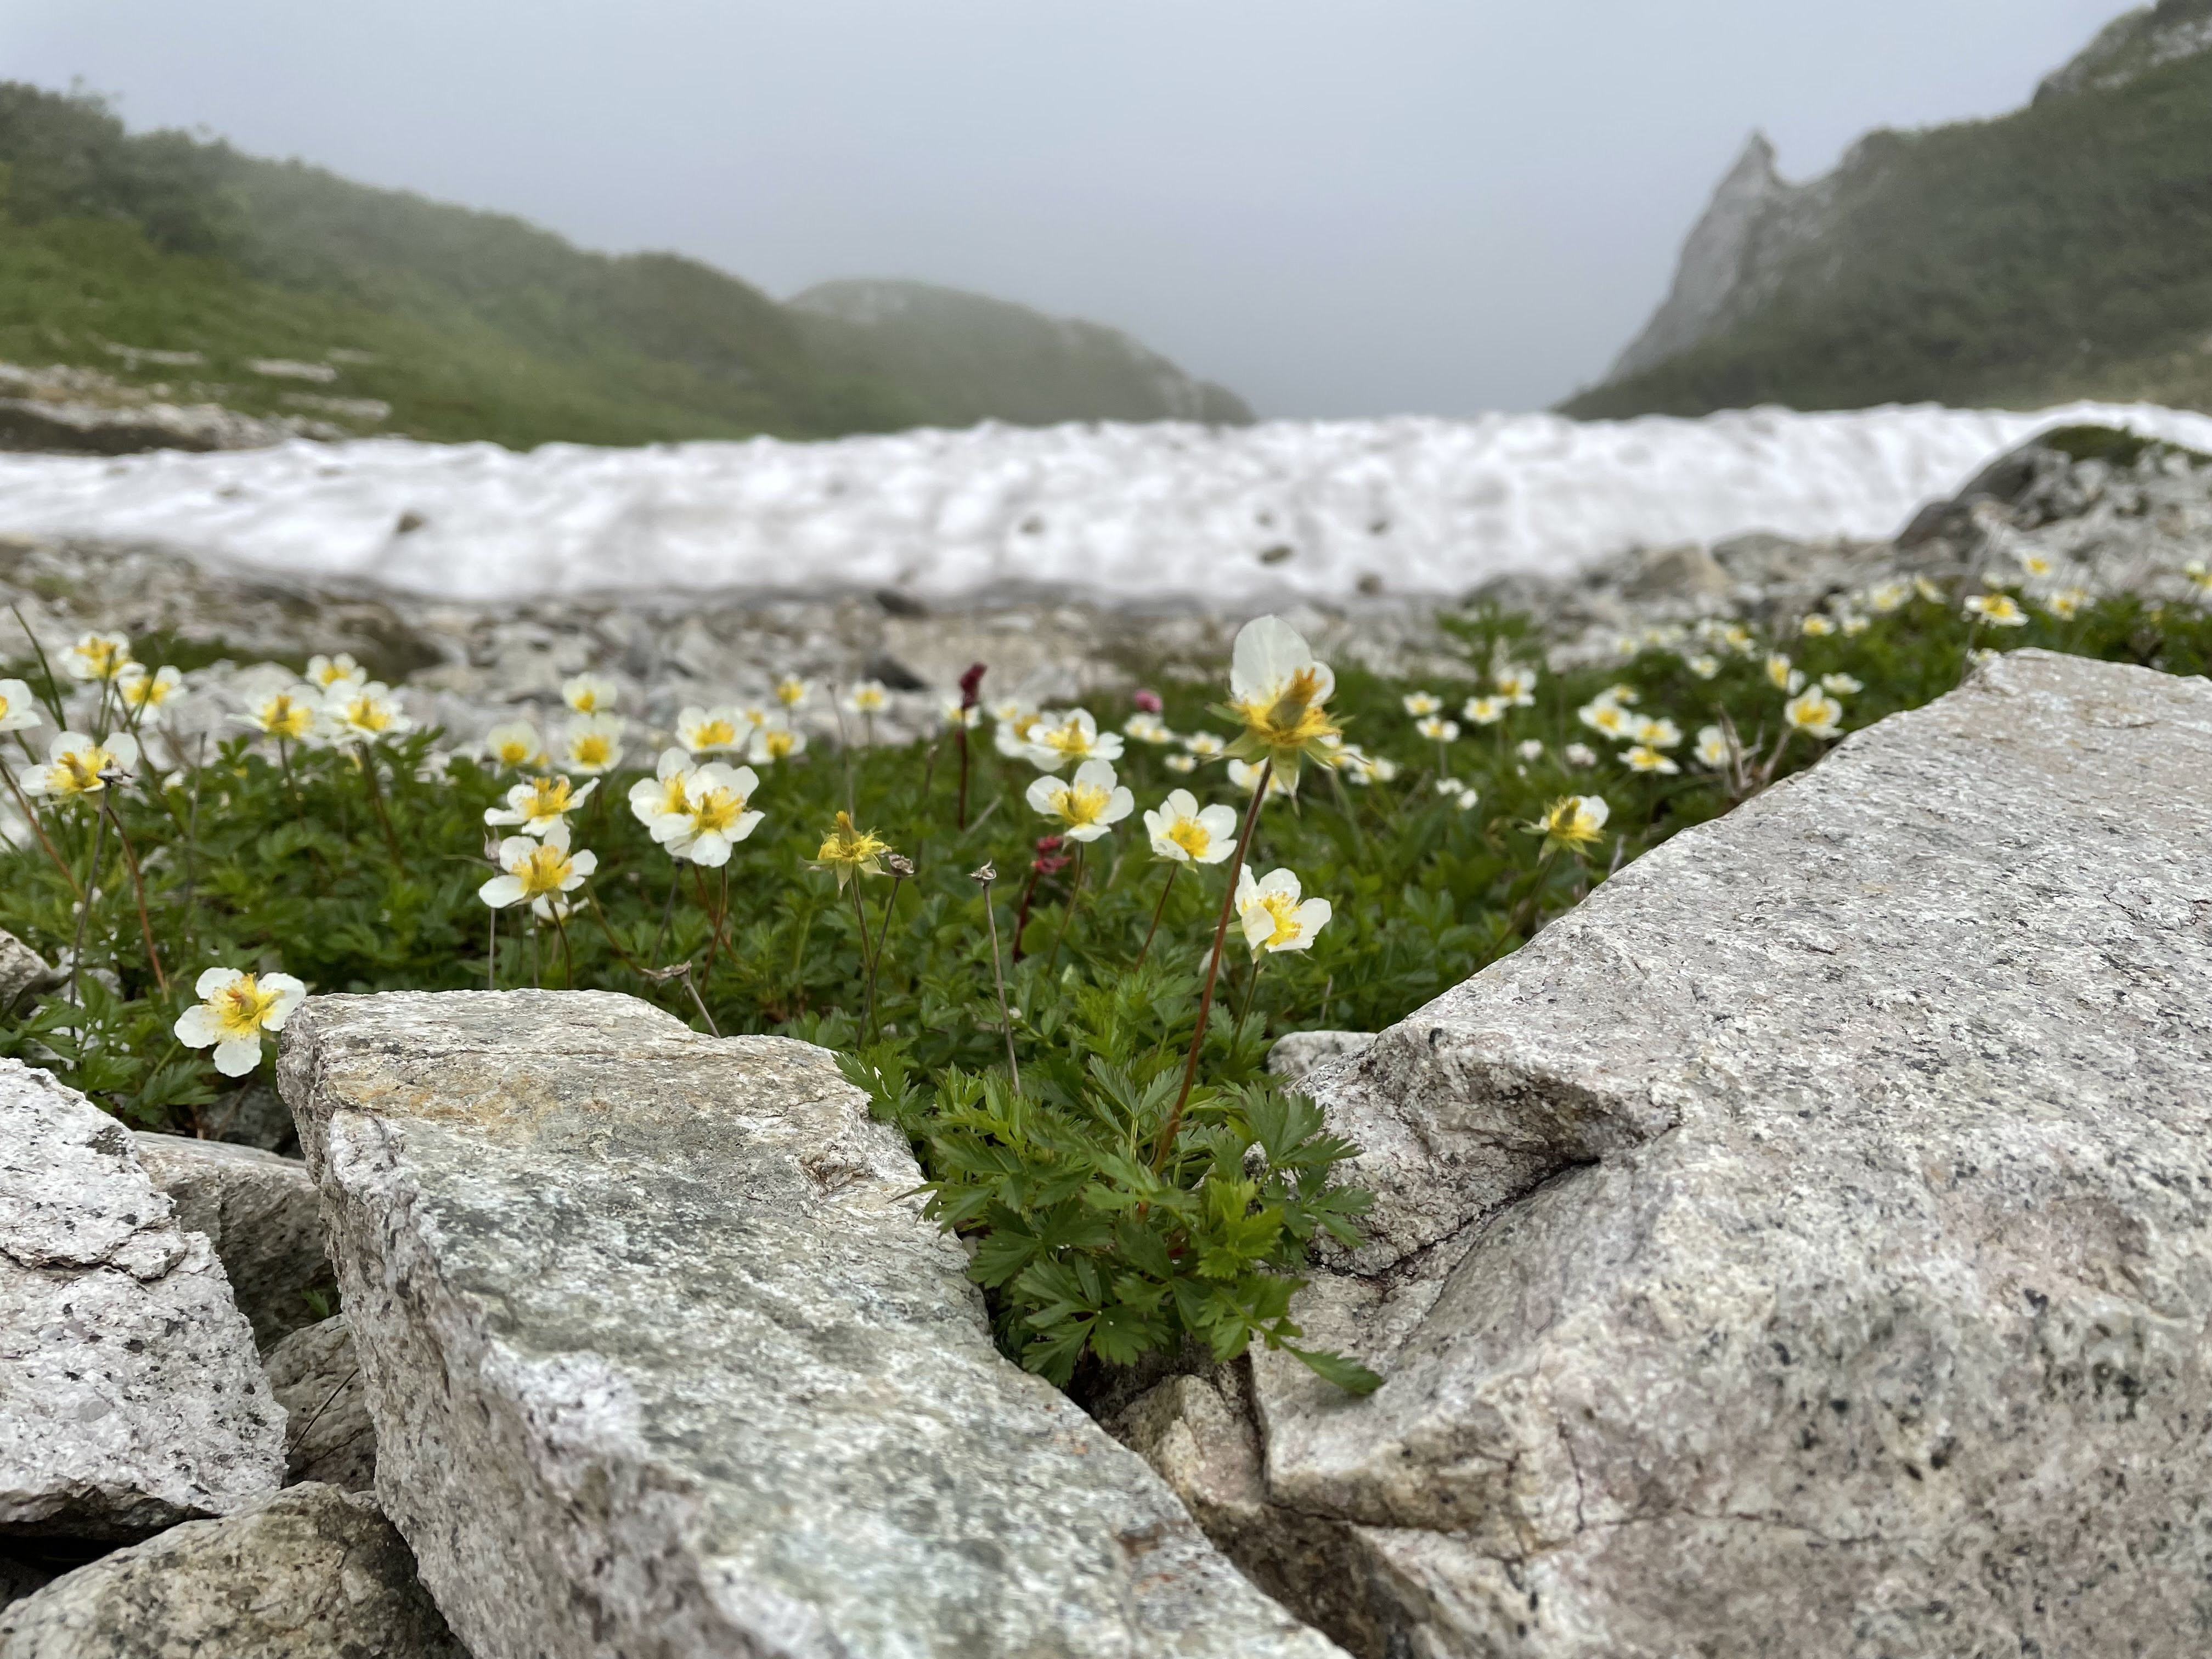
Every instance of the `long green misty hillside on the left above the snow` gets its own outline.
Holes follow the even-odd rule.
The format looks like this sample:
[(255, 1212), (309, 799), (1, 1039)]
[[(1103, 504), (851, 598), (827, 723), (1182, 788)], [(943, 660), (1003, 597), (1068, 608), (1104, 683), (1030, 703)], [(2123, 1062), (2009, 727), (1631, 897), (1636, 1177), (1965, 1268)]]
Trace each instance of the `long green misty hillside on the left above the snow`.
[[(902, 367), (927, 365), (916, 343), (838, 330), (692, 259), (595, 254), (221, 142), (133, 137), (93, 100), (0, 82), (0, 361), (511, 447), (1037, 418), (1022, 387), (947, 396), (956, 376)], [(1121, 407), (1128, 369), (1097, 365), (1097, 389), (1075, 356), (1053, 365), (1060, 400)]]

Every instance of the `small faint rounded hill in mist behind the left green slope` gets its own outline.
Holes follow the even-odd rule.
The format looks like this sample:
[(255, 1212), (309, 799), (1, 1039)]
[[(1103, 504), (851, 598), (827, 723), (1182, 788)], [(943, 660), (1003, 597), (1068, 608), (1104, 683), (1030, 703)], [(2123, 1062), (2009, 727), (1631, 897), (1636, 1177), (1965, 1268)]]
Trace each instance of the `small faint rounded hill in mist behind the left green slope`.
[(825, 361), (902, 387), (951, 425), (1252, 420), (1234, 392), (1183, 374), (1119, 330), (956, 288), (836, 281), (790, 305)]

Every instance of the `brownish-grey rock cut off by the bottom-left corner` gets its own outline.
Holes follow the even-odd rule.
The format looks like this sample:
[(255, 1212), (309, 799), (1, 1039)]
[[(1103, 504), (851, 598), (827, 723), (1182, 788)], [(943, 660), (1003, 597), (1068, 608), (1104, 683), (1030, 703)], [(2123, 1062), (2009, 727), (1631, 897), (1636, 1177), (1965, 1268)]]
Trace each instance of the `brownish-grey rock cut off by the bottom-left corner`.
[(0, 1610), (0, 1659), (469, 1659), (376, 1500), (294, 1486)]

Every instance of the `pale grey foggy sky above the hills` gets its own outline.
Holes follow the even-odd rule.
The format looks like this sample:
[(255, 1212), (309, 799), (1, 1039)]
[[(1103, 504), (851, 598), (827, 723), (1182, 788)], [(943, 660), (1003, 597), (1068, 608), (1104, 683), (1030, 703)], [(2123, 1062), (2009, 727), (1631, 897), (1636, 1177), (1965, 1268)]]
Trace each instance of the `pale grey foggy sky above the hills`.
[(2024, 102), (2119, 0), (0, 0), (0, 77), (675, 248), (1126, 327), (1274, 416), (1533, 409), (1752, 128)]

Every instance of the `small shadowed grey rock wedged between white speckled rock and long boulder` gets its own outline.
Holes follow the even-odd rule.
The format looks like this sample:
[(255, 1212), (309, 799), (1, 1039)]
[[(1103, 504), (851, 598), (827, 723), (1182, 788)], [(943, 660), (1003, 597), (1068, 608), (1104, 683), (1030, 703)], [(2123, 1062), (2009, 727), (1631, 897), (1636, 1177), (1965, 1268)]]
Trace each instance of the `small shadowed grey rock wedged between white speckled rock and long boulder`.
[[(305, 1164), (186, 1135), (133, 1139), (146, 1175), (177, 1206), (177, 1225), (208, 1234), (261, 1347), (327, 1316), (338, 1281), (323, 1256), (321, 1199)], [(325, 1298), (321, 1314), (312, 1296)]]

